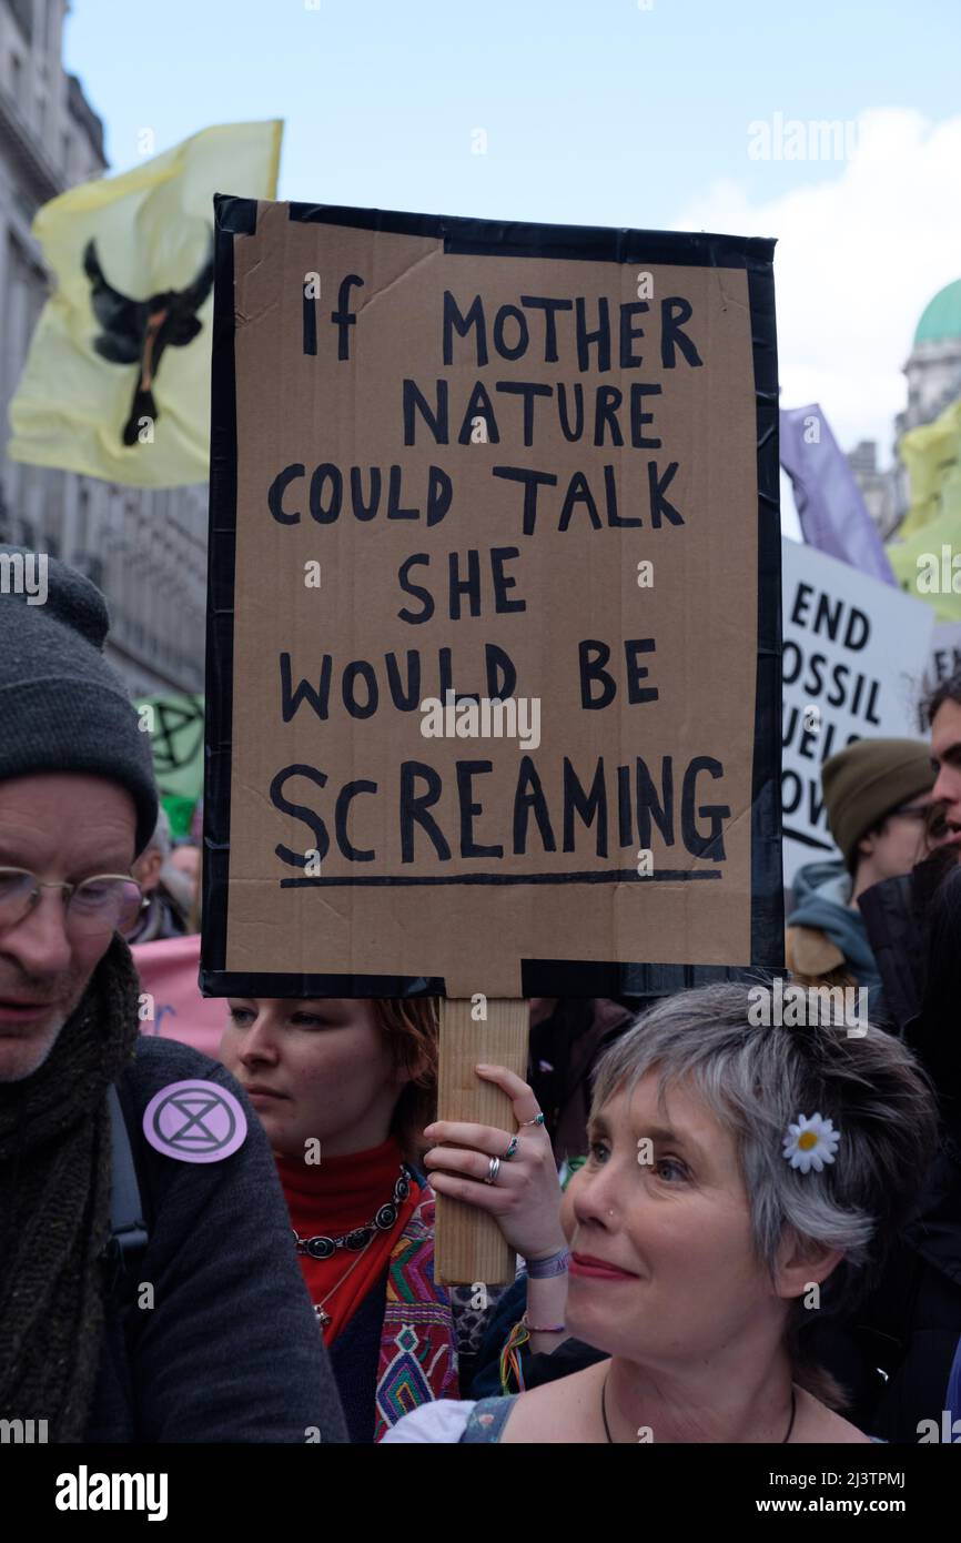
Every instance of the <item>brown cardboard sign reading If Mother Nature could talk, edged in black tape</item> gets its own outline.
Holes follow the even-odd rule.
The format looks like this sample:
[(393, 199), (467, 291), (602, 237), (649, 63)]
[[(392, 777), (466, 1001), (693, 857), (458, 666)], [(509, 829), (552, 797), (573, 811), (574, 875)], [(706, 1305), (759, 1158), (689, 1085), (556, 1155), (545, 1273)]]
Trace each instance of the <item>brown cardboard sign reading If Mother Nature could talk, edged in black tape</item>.
[(779, 964), (773, 242), (216, 224), (204, 989)]

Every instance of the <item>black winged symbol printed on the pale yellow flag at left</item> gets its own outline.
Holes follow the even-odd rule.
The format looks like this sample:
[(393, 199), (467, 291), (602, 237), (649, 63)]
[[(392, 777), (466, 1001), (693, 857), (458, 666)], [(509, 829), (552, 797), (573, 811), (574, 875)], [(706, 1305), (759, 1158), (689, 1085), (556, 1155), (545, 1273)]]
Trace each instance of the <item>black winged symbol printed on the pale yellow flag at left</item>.
[(108, 284), (94, 241), (83, 250), (83, 272), (91, 284), (91, 306), (103, 332), (94, 338), (94, 349), (111, 364), (137, 364), (130, 418), (123, 424), (123, 444), (136, 444), (142, 418), (157, 421), (159, 412), (153, 383), (160, 367), (164, 349), (182, 349), (193, 343), (202, 322), (197, 312), (213, 285), (213, 236), (210, 253), (193, 284), (184, 290), (160, 290), (150, 299), (130, 299)]

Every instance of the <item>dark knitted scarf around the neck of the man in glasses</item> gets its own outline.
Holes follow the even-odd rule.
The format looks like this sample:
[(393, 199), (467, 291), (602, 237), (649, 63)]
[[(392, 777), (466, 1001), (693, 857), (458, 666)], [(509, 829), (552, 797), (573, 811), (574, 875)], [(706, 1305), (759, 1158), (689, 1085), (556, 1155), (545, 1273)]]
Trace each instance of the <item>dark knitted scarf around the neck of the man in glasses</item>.
[(43, 1066), (0, 1083), (0, 1418), (82, 1441), (110, 1233), (106, 1089), (133, 1058), (140, 984), (120, 937)]

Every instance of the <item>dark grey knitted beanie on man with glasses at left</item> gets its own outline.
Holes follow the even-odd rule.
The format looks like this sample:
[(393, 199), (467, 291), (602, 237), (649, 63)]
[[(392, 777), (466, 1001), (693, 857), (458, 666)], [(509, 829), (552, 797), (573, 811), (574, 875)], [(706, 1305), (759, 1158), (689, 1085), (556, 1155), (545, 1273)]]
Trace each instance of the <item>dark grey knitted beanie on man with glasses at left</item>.
[(17, 554), (31, 557), (0, 545), (0, 781), (83, 772), (120, 782), (137, 807), (140, 853), (157, 822), (157, 792), (150, 734), (103, 659), (106, 602), (89, 579), (48, 557), (46, 599), (28, 603), (11, 583)]

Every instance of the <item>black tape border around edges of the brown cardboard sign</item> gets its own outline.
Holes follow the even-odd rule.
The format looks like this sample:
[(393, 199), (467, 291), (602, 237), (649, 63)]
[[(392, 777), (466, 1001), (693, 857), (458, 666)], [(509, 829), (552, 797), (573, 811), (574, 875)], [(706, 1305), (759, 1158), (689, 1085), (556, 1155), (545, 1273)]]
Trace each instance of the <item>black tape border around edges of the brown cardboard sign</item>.
[[(233, 244), (256, 231), (256, 199), (214, 196), (214, 316), (210, 418), (207, 750), (204, 765), (204, 937), (201, 991), (211, 997), (446, 995), (441, 977), (227, 971), (230, 753), (233, 727), (233, 591), (238, 434)], [(751, 967), (523, 960), (524, 997), (660, 997), (720, 980), (764, 978), (784, 967), (781, 873), (781, 520), (774, 242), (765, 238), (541, 225), (390, 210), (292, 204), (290, 219), (355, 230), (429, 236), (446, 253), (588, 262), (669, 262), (745, 268), (757, 412), (757, 684), (751, 801)], [(483, 986), (483, 981), (478, 981)]]

